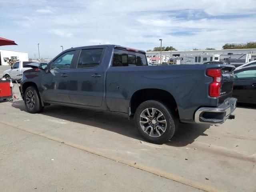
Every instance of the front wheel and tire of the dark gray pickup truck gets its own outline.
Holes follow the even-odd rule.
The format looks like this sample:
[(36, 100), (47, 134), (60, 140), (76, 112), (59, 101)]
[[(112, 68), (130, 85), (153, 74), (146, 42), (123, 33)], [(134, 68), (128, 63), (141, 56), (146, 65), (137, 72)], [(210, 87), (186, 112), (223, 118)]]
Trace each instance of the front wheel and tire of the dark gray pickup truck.
[(24, 103), (29, 113), (39, 113), (44, 110), (38, 90), (34, 86), (26, 88), (24, 93)]

